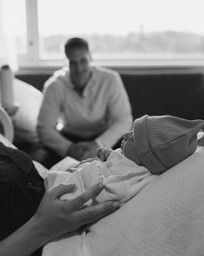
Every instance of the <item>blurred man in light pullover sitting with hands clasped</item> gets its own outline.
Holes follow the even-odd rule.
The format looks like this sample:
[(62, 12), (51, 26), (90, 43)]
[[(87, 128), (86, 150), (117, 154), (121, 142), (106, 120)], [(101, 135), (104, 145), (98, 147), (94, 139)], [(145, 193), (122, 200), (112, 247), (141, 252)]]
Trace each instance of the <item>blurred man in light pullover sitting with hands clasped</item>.
[(113, 147), (132, 126), (119, 74), (91, 66), (89, 44), (82, 38), (70, 38), (64, 51), (69, 68), (56, 71), (45, 83), (38, 117), (43, 160), (36, 160), (44, 165), (45, 158), (54, 160), (56, 155), (77, 160), (95, 157), (98, 147)]

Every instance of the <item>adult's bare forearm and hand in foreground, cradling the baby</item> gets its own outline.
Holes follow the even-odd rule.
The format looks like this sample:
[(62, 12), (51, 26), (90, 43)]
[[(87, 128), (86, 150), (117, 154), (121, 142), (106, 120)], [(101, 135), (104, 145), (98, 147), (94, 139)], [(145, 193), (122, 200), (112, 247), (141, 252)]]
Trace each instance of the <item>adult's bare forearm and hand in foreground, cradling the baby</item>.
[[(44, 193), (36, 214), (16, 232), (0, 242), (0, 255), (29, 256), (51, 239), (74, 232), (79, 227), (95, 222), (119, 207), (115, 201), (82, 207), (89, 199), (102, 192), (103, 185), (89, 188), (76, 199), (64, 201), (65, 193), (75, 192), (76, 185), (58, 185)], [(82, 208), (81, 210), (79, 210)]]

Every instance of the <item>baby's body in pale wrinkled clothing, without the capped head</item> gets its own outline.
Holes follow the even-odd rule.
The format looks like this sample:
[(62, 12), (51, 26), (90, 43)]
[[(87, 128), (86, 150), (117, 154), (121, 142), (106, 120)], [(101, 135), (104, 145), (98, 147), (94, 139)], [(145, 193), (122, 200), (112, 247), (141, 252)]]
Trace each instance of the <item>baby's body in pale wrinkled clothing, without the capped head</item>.
[(76, 192), (62, 197), (62, 199), (73, 199), (92, 185), (102, 182), (104, 189), (96, 200), (98, 202), (118, 200), (123, 204), (154, 178), (155, 175), (148, 172), (146, 167), (136, 165), (117, 149), (110, 153), (106, 161), (102, 162), (99, 158), (95, 158), (89, 163), (80, 165), (73, 173), (49, 172), (46, 186), (50, 188), (62, 183), (76, 183)]

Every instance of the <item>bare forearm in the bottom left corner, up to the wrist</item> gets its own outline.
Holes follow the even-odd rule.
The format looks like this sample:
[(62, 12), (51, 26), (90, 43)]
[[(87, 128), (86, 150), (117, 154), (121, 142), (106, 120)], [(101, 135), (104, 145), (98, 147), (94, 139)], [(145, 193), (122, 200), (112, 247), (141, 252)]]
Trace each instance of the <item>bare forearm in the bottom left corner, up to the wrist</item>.
[(28, 256), (46, 242), (46, 232), (43, 232), (42, 224), (34, 217), (0, 242), (0, 255)]

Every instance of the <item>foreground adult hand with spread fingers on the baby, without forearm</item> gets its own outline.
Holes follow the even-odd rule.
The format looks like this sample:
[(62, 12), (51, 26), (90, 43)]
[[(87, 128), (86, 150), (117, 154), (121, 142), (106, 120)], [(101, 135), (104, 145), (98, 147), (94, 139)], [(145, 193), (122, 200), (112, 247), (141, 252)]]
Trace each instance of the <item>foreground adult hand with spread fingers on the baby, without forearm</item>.
[(45, 241), (74, 232), (79, 227), (95, 222), (119, 207), (119, 202), (109, 201), (98, 205), (83, 207), (89, 199), (95, 198), (103, 185), (98, 184), (78, 196), (76, 199), (61, 200), (63, 194), (75, 192), (76, 185), (58, 185), (45, 192), (34, 219), (41, 226)]

